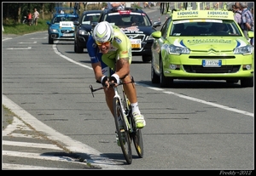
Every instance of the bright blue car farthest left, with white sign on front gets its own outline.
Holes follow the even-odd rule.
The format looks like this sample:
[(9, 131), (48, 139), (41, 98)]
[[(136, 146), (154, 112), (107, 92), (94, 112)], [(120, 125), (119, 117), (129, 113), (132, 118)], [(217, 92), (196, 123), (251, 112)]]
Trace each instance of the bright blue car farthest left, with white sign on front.
[[(48, 43), (53, 44), (55, 40), (74, 40), (75, 26), (73, 21), (79, 20), (79, 14), (73, 8), (55, 8), (56, 13), (52, 20), (47, 21)], [(72, 13), (73, 12), (73, 13)]]

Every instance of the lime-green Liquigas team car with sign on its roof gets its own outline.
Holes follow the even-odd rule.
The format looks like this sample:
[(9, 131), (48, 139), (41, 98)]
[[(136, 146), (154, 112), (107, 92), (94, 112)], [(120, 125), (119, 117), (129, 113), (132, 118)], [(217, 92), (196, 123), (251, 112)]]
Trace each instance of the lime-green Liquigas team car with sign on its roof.
[(232, 11), (173, 10), (151, 37), (151, 81), (161, 88), (172, 87), (174, 79), (240, 81), (243, 88), (253, 87), (253, 46)]

